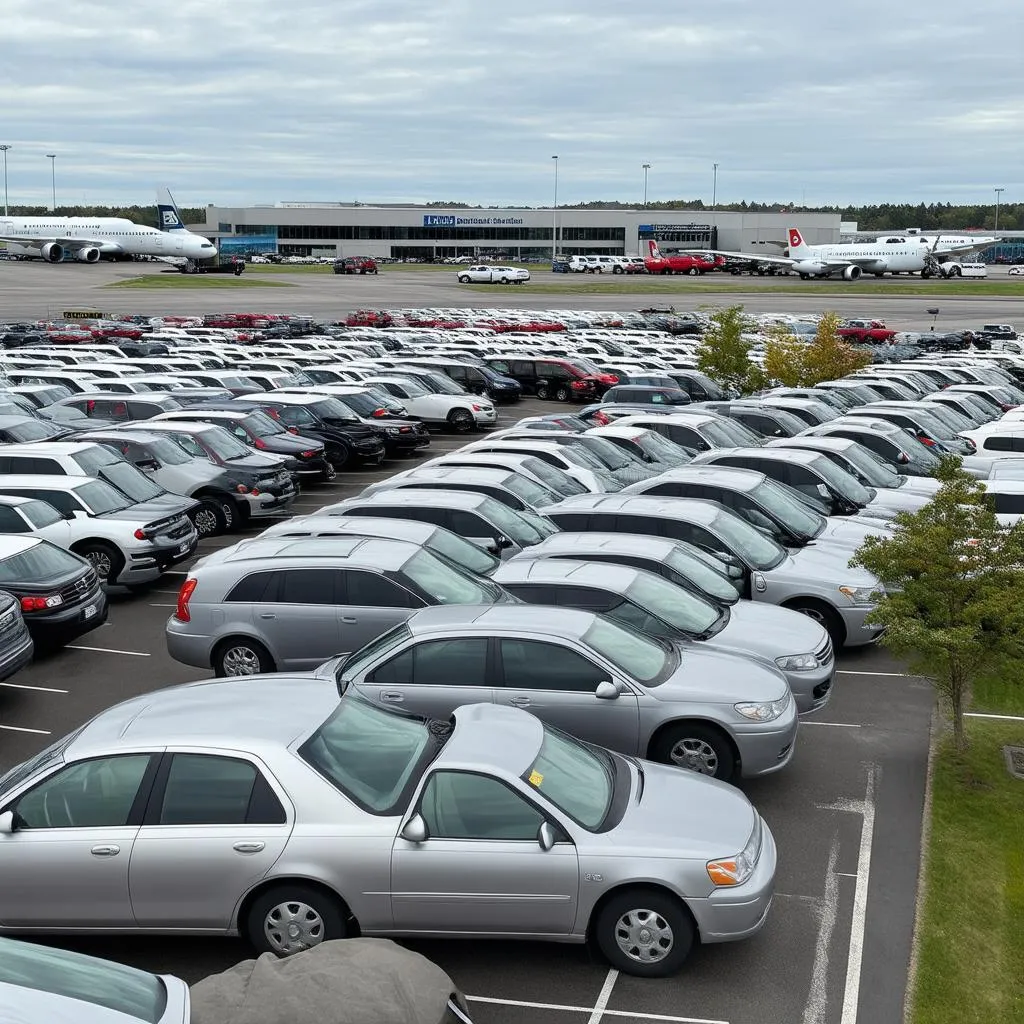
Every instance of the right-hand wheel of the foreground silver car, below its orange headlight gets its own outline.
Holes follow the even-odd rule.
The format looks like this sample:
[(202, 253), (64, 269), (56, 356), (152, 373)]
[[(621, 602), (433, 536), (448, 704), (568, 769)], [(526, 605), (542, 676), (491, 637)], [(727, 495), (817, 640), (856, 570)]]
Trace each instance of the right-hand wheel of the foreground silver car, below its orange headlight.
[(601, 907), (593, 931), (598, 948), (623, 974), (665, 978), (693, 947), (695, 929), (686, 907), (656, 889), (627, 889)]

